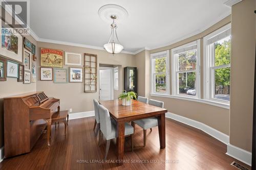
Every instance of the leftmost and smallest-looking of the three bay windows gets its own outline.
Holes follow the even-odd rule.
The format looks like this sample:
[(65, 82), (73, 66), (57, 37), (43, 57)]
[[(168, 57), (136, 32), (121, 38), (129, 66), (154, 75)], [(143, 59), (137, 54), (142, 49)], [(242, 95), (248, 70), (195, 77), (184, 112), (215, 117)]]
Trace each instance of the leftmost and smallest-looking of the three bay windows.
[(169, 94), (169, 51), (151, 54), (151, 92)]

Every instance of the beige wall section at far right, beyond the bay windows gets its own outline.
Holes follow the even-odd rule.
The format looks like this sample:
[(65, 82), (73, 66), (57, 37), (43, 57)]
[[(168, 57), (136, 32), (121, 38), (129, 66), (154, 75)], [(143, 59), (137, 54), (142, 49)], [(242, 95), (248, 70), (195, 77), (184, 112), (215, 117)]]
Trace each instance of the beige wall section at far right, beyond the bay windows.
[(232, 6), (230, 144), (251, 152), (255, 0)]

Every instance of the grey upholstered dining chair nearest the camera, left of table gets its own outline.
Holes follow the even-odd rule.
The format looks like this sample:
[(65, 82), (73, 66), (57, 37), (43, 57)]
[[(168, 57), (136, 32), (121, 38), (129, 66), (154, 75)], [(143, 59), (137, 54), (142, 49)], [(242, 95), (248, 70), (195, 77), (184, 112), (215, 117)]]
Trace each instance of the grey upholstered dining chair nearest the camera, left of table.
[[(99, 131), (98, 145), (100, 145), (100, 141), (102, 138), (101, 134), (103, 134), (103, 136), (106, 139), (106, 151), (105, 151), (105, 157), (104, 157), (104, 160), (105, 160), (109, 153), (110, 140), (118, 137), (118, 133), (116, 128), (116, 123), (114, 123), (114, 121), (112, 121), (110, 118), (109, 110), (102, 105), (99, 105), (99, 117), (100, 117), (99, 118), (100, 131)], [(127, 135), (131, 136), (132, 151), (133, 151), (133, 132), (134, 132), (133, 127), (128, 123), (124, 123), (124, 136), (127, 136)]]

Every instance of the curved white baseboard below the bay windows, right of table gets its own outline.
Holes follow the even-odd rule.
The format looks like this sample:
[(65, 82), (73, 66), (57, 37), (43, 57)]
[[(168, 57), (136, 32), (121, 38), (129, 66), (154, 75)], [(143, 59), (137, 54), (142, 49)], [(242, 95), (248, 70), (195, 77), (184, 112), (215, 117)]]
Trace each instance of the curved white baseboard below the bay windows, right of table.
[(211, 128), (201, 122), (197, 122), (196, 120), (193, 120), (193, 119), (190, 119), (190, 118), (187, 118), (187, 117), (183, 117), (183, 116), (180, 116), (180, 115), (177, 115), (177, 114), (174, 114), (174, 113), (165, 113), (165, 117), (168, 117), (168, 118), (171, 118), (171, 119), (174, 119), (174, 120), (177, 120), (178, 122), (181, 122), (183, 124), (186, 124), (186, 125), (189, 125), (191, 127), (194, 127), (194, 128), (197, 128), (197, 129), (200, 129), (202, 131), (204, 131), (205, 133), (209, 134), (210, 136), (220, 140), (221, 142), (225, 143), (225, 144), (228, 144), (229, 143), (229, 136), (214, 129), (214, 128)]

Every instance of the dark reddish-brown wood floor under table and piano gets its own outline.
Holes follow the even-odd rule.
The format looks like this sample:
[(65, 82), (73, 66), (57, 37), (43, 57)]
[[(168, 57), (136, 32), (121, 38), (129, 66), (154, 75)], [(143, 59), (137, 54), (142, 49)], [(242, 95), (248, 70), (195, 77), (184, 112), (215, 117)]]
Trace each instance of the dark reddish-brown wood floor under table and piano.
[[(43, 134), (32, 149), (32, 152), (5, 159), (0, 163), (0, 169), (237, 170), (237, 168), (230, 165), (234, 159), (225, 154), (225, 144), (200, 130), (168, 118), (166, 118), (165, 149), (159, 149), (157, 127), (153, 128), (152, 132), (148, 130), (147, 145), (143, 147), (143, 130), (136, 126), (134, 152), (131, 151), (130, 137), (125, 139), (124, 159), (129, 163), (124, 162), (122, 166), (117, 166), (115, 163), (115, 140), (110, 144), (108, 155), (110, 163), (94, 163), (94, 161), (103, 161), (105, 140), (98, 147), (98, 138), (94, 137), (93, 125), (94, 117), (70, 120), (66, 137), (63, 125), (57, 126), (56, 130), (52, 126), (51, 148), (47, 147), (46, 135)], [(165, 160), (167, 162), (163, 163)], [(145, 163), (134, 163), (135, 161)]]

